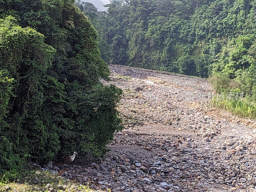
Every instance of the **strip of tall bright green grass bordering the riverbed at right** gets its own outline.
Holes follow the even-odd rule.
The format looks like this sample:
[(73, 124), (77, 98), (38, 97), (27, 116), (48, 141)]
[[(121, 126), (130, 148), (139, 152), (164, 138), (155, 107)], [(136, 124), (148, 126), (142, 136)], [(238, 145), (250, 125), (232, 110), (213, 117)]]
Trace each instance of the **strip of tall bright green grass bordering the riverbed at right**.
[(226, 109), (241, 117), (256, 119), (256, 105), (246, 100), (222, 100), (214, 96), (211, 104), (214, 107)]

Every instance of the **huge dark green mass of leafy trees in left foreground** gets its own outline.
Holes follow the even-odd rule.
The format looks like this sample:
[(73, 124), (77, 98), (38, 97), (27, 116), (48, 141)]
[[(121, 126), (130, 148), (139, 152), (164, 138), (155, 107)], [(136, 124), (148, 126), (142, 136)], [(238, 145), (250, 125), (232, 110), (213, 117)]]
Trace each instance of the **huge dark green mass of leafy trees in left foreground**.
[(98, 34), (72, 0), (0, 0), (0, 174), (106, 152), (122, 90), (104, 86)]

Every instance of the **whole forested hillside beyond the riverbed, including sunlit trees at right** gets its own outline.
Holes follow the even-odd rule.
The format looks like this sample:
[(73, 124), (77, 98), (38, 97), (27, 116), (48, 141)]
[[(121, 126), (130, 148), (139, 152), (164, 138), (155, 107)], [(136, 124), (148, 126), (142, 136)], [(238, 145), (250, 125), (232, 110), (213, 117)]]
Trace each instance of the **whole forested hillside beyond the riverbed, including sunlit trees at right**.
[(215, 104), (256, 117), (255, 0), (111, 0), (98, 12), (77, 4), (97, 23), (111, 63), (210, 77), (215, 92), (243, 93), (251, 108)]

